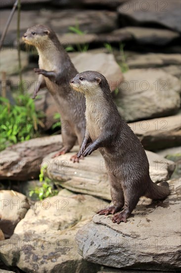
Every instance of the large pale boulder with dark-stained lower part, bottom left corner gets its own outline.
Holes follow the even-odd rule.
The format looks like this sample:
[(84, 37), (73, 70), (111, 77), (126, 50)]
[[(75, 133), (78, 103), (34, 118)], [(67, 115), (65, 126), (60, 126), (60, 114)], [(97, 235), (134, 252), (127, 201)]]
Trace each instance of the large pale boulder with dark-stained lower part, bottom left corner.
[(100, 267), (77, 253), (75, 234), (99, 207), (100, 200), (67, 190), (32, 204), (13, 236), (1, 241), (0, 258), (27, 273), (96, 273)]

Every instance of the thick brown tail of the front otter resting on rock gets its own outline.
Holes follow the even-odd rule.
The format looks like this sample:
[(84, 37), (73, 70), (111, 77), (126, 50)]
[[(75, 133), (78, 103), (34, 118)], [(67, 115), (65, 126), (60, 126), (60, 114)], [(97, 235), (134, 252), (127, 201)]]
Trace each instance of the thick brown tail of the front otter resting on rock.
[(169, 184), (161, 182), (159, 186), (150, 179), (150, 183), (144, 196), (150, 199), (164, 199), (170, 194)]

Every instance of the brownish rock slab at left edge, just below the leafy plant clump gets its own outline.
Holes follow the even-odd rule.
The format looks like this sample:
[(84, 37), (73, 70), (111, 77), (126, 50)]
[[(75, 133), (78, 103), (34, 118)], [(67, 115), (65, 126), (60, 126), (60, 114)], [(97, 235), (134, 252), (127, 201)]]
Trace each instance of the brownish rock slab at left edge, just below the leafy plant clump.
[(61, 141), (60, 135), (45, 136), (7, 147), (0, 152), (0, 178), (27, 181), (38, 177), (43, 158), (60, 149)]

